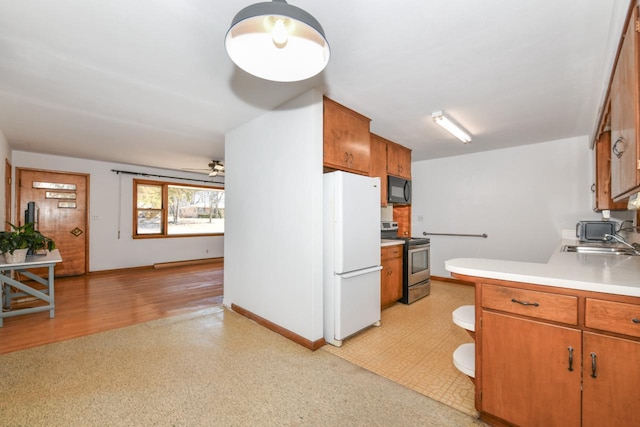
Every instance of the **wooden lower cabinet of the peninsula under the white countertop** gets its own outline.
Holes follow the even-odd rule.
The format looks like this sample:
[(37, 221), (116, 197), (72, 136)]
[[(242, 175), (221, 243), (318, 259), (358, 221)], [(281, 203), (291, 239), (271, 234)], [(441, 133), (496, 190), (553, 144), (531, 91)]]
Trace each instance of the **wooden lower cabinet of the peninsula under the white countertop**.
[(640, 426), (640, 297), (476, 287), (476, 409), (496, 426)]

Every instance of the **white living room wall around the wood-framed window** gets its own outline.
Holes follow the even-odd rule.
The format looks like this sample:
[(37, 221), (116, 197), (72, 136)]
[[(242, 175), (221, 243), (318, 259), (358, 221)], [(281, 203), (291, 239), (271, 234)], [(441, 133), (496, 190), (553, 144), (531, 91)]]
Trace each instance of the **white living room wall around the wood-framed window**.
[[(14, 167), (90, 174), (89, 271), (223, 256), (224, 238), (221, 236), (134, 240), (131, 236), (133, 234), (133, 179), (135, 177), (116, 174), (111, 170), (127, 170), (194, 179), (206, 179), (206, 175), (25, 151), (14, 151), (12, 156)], [(171, 181), (153, 177), (147, 179)], [(176, 182), (189, 183), (189, 181)], [(197, 182), (191, 183), (198, 184)]]

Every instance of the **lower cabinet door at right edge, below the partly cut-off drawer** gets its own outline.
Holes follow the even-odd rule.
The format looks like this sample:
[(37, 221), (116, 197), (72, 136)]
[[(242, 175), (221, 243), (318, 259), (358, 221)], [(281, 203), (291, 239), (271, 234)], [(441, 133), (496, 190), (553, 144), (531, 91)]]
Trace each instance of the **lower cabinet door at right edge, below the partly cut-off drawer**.
[(640, 343), (591, 332), (583, 339), (582, 425), (640, 426)]

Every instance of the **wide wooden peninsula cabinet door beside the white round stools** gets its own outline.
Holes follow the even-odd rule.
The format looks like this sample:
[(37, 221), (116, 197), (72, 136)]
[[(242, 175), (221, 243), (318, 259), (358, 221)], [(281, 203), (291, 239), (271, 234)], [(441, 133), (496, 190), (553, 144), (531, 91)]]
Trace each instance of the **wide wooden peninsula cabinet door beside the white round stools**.
[(484, 310), (481, 325), (482, 411), (520, 426), (579, 426), (581, 332)]

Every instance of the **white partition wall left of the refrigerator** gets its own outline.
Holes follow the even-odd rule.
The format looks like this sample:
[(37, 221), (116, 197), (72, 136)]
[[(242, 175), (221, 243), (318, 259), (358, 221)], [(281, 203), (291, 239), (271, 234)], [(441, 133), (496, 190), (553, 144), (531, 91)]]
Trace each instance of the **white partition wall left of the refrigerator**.
[(322, 94), (226, 135), (224, 304), (322, 338)]

